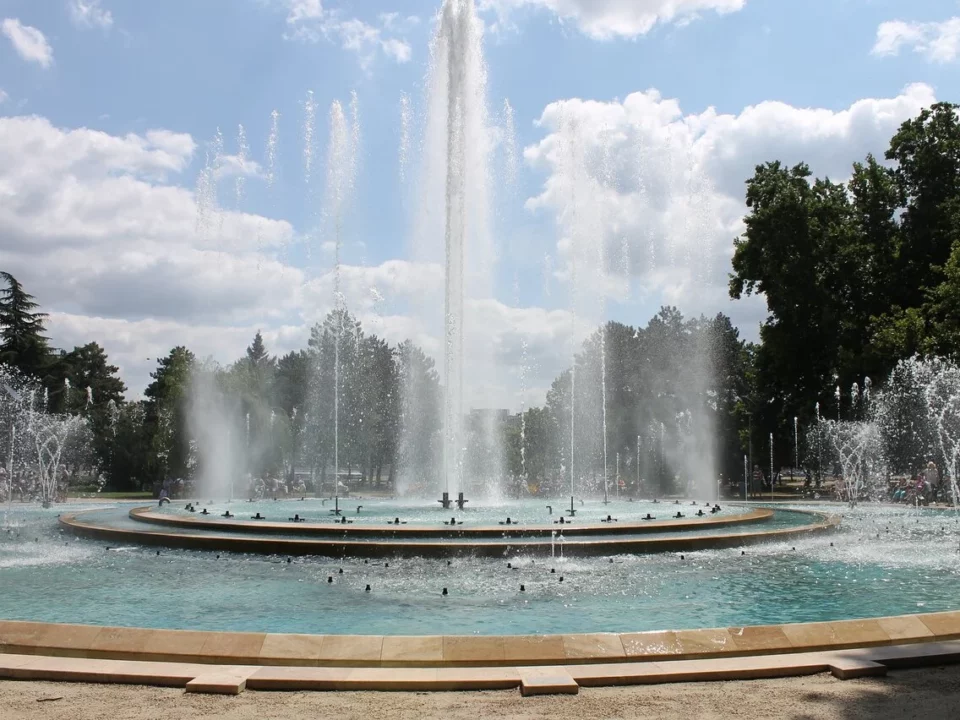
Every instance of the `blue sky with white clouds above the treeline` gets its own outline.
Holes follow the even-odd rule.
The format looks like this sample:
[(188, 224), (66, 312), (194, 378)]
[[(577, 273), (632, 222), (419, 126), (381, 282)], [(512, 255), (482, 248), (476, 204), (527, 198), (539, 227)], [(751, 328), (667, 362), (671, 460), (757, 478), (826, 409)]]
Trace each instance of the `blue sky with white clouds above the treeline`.
[[(52, 343), (99, 342), (131, 397), (175, 345), (223, 363), (258, 330), (273, 353), (304, 346), (334, 296), (330, 108), (352, 122), (355, 97), (344, 301), (439, 360), (411, 308), (442, 302), (442, 270), (415, 252), (440, 3), (0, 0), (0, 269), (49, 313)], [(923, 107), (960, 101), (953, 0), (475, 3), (493, 270), (470, 317), (494, 360), (468, 375), (474, 407), (542, 403), (587, 332), (570, 292), (583, 209), (607, 258), (580, 288), (603, 299), (591, 322), (644, 325), (670, 304), (753, 340), (762, 298), (726, 292), (753, 168), (843, 180)], [(570, 123), (603, 159), (589, 201), (564, 191)]]

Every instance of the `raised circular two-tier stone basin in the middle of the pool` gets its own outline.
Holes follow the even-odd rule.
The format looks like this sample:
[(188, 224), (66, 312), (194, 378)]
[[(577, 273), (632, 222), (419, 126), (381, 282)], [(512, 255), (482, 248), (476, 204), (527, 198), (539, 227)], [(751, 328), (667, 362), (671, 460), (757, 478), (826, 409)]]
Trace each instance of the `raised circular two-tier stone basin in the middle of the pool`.
[[(529, 503), (527, 503), (529, 505)], [(487, 524), (489, 512), (471, 518), (461, 513), (446, 523), (438, 521), (436, 511), (421, 516), (413, 524), (398, 523), (399, 517), (386, 521), (396, 511), (396, 506), (383, 508), (373, 505), (369, 511), (375, 518), (364, 524), (349, 524), (339, 520), (291, 522), (307, 518), (306, 501), (298, 503), (304, 515), (288, 517), (287, 522), (271, 522), (249, 519), (244, 514), (240, 519), (231, 513), (231, 518), (217, 517), (216, 512), (206, 516), (197, 512), (162, 512), (153, 507), (133, 508), (124, 516), (121, 512), (94, 512), (67, 514), (60, 519), (61, 525), (82, 536), (115, 543), (131, 542), (146, 545), (161, 545), (182, 549), (215, 550), (228, 552), (258, 553), (264, 555), (326, 555), (330, 557), (506, 557), (511, 553), (529, 556), (567, 555), (612, 555), (625, 553), (656, 553), (666, 551), (690, 552), (704, 548), (734, 547), (774, 538), (792, 537), (810, 532), (826, 532), (833, 529), (835, 520), (811, 519), (801, 513), (779, 513), (778, 522), (767, 525), (776, 513), (764, 508), (735, 508), (727, 514), (704, 513), (702, 517), (687, 517), (671, 520), (650, 520), (636, 510), (639, 503), (623, 503), (616, 508), (603, 505), (606, 515), (600, 521), (554, 521), (555, 524), (529, 524), (500, 521)], [(652, 504), (654, 507), (662, 507)], [(190, 503), (185, 503), (190, 507)], [(628, 507), (630, 506), (630, 507)], [(169, 507), (169, 506), (168, 506)], [(229, 507), (229, 505), (228, 505)], [(585, 508), (589, 506), (584, 506)], [(670, 512), (679, 508), (670, 505)], [(278, 512), (283, 506), (274, 507)], [(523, 503), (507, 506), (507, 512), (523, 511)], [(592, 508), (591, 508), (592, 509)], [(503, 510), (498, 506), (497, 510)], [(593, 509), (595, 512), (595, 509)], [(620, 521), (621, 513), (623, 521)], [(422, 510), (421, 510), (422, 512)], [(226, 514), (226, 512), (224, 513)], [(432, 521), (427, 518), (432, 514)], [(589, 512), (584, 513), (589, 516)], [(614, 519), (614, 514), (617, 518)], [(282, 513), (281, 513), (282, 516)], [(653, 517), (652, 515), (650, 515)], [(606, 520), (606, 518), (610, 520)], [(661, 514), (662, 517), (662, 514)], [(131, 525), (129, 521), (134, 521)], [(456, 522), (456, 524), (452, 524)], [(764, 530), (755, 530), (762, 523)]]

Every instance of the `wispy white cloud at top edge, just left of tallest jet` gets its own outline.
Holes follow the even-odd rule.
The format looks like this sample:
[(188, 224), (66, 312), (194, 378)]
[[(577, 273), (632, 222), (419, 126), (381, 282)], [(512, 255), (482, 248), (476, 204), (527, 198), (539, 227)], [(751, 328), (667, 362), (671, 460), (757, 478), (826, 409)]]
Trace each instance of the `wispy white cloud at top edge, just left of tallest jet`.
[(356, 53), (360, 66), (369, 70), (378, 53), (397, 63), (409, 62), (410, 44), (402, 36), (419, 23), (414, 16), (380, 13), (379, 25), (359, 18), (345, 18), (342, 12), (325, 8), (321, 0), (280, 0), (287, 11), (290, 32), (286, 37), (305, 42), (327, 40)]

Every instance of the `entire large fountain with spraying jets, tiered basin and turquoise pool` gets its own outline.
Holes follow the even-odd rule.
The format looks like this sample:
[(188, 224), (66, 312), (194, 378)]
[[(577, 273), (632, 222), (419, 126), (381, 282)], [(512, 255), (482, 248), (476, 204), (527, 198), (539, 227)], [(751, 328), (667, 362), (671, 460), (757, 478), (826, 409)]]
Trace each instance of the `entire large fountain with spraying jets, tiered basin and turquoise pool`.
[[(359, 346), (344, 320), (349, 308), (341, 276), (359, 171), (354, 96), (334, 102), (329, 113), (320, 230), (311, 243), (313, 249), (318, 241), (330, 243), (333, 251), (333, 313), (312, 338), (322, 362), (314, 368), (307, 407), (289, 416), (271, 410), (251, 417), (212, 382), (210, 368), (201, 368), (193, 378), (191, 415), (202, 497), (161, 508), (88, 503), (64, 511), (43, 505), (56, 499), (59, 467), (77, 446), (82, 421), (47, 412), (42, 395), (22, 384), (4, 384), (9, 389), (0, 410), (9, 437), (0, 442), (9, 440), (15, 449), (7, 457), (18, 480), (11, 483), (13, 473), (7, 473), (0, 618), (261, 632), (495, 634), (834, 621), (956, 606), (960, 515), (919, 503), (864, 502), (886, 499), (890, 474), (935, 457), (952, 489), (943, 497), (952, 491), (956, 504), (960, 370), (944, 361), (909, 361), (879, 391), (866, 392), (866, 382), (854, 389), (853, 420), (825, 420), (818, 413), (805, 463), (839, 464), (843, 503), (772, 510), (715, 504), (712, 432), (694, 402), (709, 386), (709, 348), (692, 348), (682, 358), (687, 374), (674, 393), (679, 400), (673, 397), (680, 409), (672, 418), (645, 419), (631, 458), (635, 465), (611, 454), (610, 348), (602, 330), (588, 342), (599, 358), (596, 372), (571, 358), (572, 407), (556, 462), (563, 488), (553, 496), (503, 501), (496, 447), (483, 455), (489, 467), (482, 475), (467, 471), (465, 389), (478, 369), (495, 366), (475, 316), (477, 302), (491, 296), (496, 257), (494, 136), (508, 138), (508, 146), (513, 136), (509, 105), (503, 132), (493, 132), (485, 73), (473, 0), (446, 0), (431, 46), (419, 144), (412, 139), (415, 104), (405, 98), (401, 111), (401, 173), (418, 199), (412, 254), (444, 269), (442, 303), (425, 297), (411, 309), (442, 338), (443, 367), (439, 402), (416, 378), (404, 384), (405, 442), (417, 439), (431, 413), (442, 417), (436, 448), (428, 442), (420, 446), (426, 453), (400, 453), (405, 467), (397, 486), (417, 490), (349, 502), (341, 494), (341, 447), (363, 420), (351, 415), (346, 422), (341, 404), (344, 363)], [(321, 175), (312, 94), (304, 113), (309, 188)], [(271, 186), (279, 128), (274, 112), (265, 162)], [(574, 335), (584, 337), (604, 316), (598, 283), (618, 262), (630, 261), (616, 246), (596, 240), (605, 210), (595, 199), (616, 182), (615, 159), (592, 155), (573, 113), (561, 113), (556, 137), (568, 208), (558, 231), (569, 248), (569, 310), (572, 322), (588, 329)], [(237, 147), (241, 160), (247, 157), (242, 128)], [(414, 147), (421, 150), (419, 166)], [(506, 155), (513, 158), (506, 165), (509, 180), (516, 153), (508, 147)], [(225, 156), (218, 131), (198, 180), (200, 233), (215, 233), (223, 222), (217, 186)], [(238, 180), (231, 203), (240, 207), (245, 192)], [(283, 456), (285, 474), (294, 475), (297, 448), (319, 435), (323, 413), (332, 417), (332, 484), (315, 493), (298, 488), (284, 498), (262, 480), (245, 477), (257, 456), (272, 452)], [(251, 441), (251, 427), (258, 425), (270, 428), (268, 441)], [(481, 430), (479, 442), (495, 446), (493, 426)], [(286, 433), (287, 443), (273, 442), (274, 432)], [(526, 432), (521, 426), (521, 439)], [(794, 432), (799, 463), (796, 423)], [(642, 467), (642, 455), (649, 456), (649, 467)], [(522, 447), (524, 475), (526, 461)], [(686, 492), (656, 497), (655, 484), (645, 483), (648, 471), (682, 475)], [(621, 493), (627, 472), (631, 480), (636, 473), (635, 482), (630, 493)], [(25, 478), (32, 478), (28, 490), (21, 489)], [(452, 502), (462, 492), (470, 496), (466, 508), (436, 502), (439, 493)], [(39, 502), (20, 502), (34, 498)], [(842, 522), (826, 517), (839, 513)]]

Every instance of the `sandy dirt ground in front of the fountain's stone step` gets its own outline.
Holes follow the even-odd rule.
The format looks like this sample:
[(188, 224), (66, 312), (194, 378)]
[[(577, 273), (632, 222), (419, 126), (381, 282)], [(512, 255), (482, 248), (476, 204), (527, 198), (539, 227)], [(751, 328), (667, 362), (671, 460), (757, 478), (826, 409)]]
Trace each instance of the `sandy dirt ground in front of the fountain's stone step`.
[[(60, 698), (52, 700), (52, 698)], [(51, 700), (47, 700), (51, 699)], [(0, 681), (2, 720), (958, 720), (960, 666), (839, 681), (829, 675), (754, 682), (583, 688), (576, 697), (477, 693), (187, 695), (123, 685)]]

